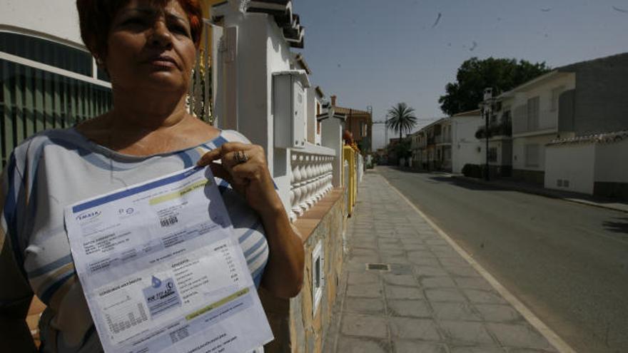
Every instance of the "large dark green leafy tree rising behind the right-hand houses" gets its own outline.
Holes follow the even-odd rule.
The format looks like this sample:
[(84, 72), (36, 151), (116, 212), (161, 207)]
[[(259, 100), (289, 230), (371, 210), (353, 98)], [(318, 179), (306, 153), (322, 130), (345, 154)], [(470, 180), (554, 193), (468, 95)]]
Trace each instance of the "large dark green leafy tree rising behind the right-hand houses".
[(453, 115), (477, 109), (482, 101), (484, 88), (492, 87), (493, 94), (510, 91), (522, 83), (550, 71), (542, 63), (508, 58), (470, 58), (458, 68), (456, 81), (447, 83), (445, 96), (440, 96), (440, 110)]

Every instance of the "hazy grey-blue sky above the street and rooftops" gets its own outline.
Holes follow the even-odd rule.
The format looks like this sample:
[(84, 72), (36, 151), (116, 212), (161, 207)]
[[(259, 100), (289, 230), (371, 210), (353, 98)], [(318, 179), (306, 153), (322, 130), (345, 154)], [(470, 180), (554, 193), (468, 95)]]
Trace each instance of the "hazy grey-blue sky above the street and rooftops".
[[(311, 81), (383, 121), (397, 102), (422, 119), (472, 56), (552, 67), (628, 51), (628, 0), (293, 0)], [(384, 143), (373, 126), (374, 147)], [(389, 133), (389, 138), (393, 136)]]

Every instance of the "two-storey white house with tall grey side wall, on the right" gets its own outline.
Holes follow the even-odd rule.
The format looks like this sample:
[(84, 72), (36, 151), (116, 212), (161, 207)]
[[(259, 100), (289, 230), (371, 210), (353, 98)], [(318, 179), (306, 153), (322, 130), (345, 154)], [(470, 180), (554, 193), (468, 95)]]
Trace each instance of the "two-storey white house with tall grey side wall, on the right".
[[(574, 63), (502, 93), (512, 116), (512, 176), (545, 182), (545, 146), (555, 139), (628, 129), (628, 53)], [(510, 113), (512, 112), (512, 113)]]

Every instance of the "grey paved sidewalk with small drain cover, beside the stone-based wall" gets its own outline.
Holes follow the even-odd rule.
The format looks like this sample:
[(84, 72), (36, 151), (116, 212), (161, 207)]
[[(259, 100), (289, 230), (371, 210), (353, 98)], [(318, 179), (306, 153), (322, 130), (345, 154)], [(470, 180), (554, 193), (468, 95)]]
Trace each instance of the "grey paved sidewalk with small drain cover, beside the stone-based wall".
[(348, 242), (323, 352), (557, 352), (376, 172)]

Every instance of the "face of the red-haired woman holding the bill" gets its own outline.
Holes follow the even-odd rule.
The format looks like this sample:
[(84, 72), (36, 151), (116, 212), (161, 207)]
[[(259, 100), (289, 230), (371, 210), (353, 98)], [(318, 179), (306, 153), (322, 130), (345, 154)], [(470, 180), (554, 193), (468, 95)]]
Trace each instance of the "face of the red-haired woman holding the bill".
[(131, 0), (113, 18), (104, 64), (113, 88), (187, 92), (196, 58), (188, 16), (178, 1), (165, 8)]

